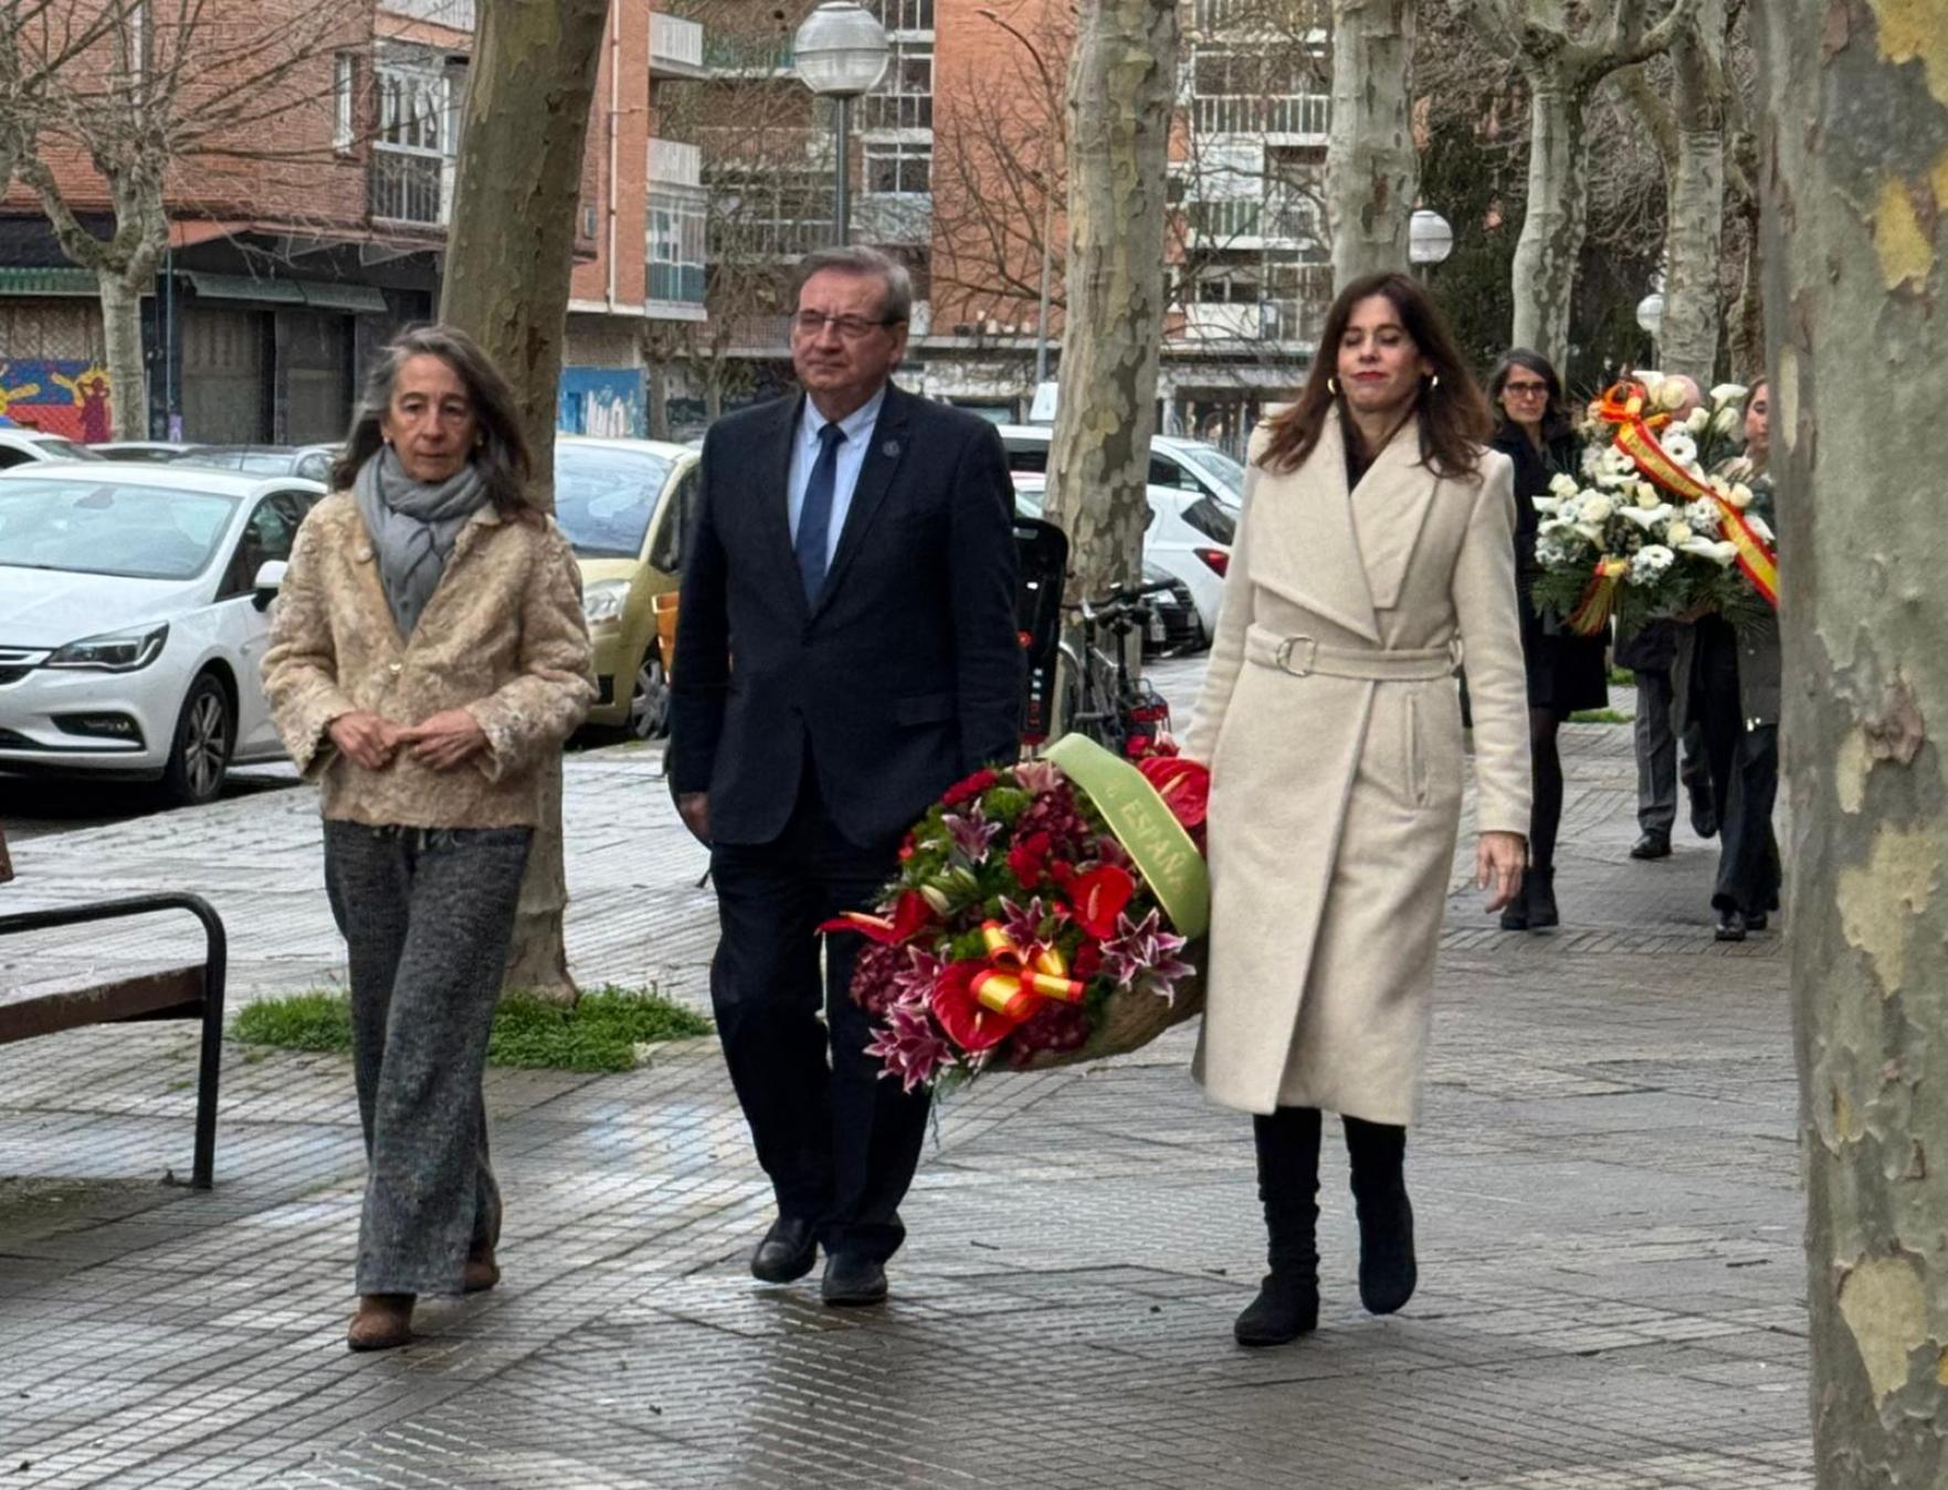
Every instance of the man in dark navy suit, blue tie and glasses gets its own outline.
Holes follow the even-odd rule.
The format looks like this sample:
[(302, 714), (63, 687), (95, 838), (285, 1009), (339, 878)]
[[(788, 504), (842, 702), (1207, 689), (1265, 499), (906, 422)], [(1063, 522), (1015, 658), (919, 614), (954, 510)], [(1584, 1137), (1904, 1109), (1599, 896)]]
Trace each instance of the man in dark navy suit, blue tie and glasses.
[(873, 904), (947, 787), (1015, 758), (1021, 717), (1007, 458), (892, 386), (910, 310), (882, 253), (805, 259), (805, 391), (705, 436), (676, 631), (670, 785), (711, 849), (711, 1003), (777, 1192), (752, 1274), (803, 1278), (824, 1247), (834, 1305), (886, 1297), (927, 1100), (863, 1050), (855, 935), (820, 987), (818, 925)]

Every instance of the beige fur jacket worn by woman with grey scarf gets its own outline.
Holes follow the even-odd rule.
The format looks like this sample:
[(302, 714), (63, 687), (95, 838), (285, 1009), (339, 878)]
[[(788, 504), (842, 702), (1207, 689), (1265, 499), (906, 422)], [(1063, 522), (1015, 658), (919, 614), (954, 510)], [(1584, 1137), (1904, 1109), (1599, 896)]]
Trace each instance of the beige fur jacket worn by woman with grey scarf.
[[(540, 822), (543, 765), (596, 693), (590, 662), (581, 577), (553, 522), (475, 514), (405, 639), (358, 506), (337, 493), (298, 530), (271, 614), (263, 686), (290, 758), (321, 787), (327, 818), (516, 828)], [(399, 725), (466, 709), (489, 748), (450, 771), (405, 750), (366, 771), (327, 732), (355, 709)]]

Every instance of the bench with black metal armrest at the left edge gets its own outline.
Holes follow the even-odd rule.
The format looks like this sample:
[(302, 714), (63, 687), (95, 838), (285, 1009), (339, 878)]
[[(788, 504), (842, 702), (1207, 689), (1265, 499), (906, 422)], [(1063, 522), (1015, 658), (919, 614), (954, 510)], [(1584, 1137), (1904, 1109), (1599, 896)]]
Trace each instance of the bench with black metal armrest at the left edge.
[(210, 1188), (216, 1161), (216, 1079), (224, 1040), (224, 964), (228, 943), (222, 917), (203, 896), (160, 894), (99, 900), (90, 906), (0, 915), (0, 937), (60, 925), (113, 921), (127, 915), (185, 910), (203, 921), (205, 954), (199, 968), (168, 968), (113, 984), (76, 989), (0, 989), (0, 1046), (56, 1034), (84, 1024), (131, 1024), (150, 1019), (201, 1019), (203, 1062), (197, 1069), (197, 1157), (191, 1184)]

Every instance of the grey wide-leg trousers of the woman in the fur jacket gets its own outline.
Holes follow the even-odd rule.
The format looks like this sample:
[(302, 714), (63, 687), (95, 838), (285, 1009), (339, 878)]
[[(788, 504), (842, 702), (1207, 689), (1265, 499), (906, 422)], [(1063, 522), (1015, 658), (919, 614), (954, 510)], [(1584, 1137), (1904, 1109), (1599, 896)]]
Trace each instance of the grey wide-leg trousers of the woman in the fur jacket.
[(530, 838), (325, 824), (366, 1143), (358, 1293), (458, 1293), (499, 1233), (481, 1071)]

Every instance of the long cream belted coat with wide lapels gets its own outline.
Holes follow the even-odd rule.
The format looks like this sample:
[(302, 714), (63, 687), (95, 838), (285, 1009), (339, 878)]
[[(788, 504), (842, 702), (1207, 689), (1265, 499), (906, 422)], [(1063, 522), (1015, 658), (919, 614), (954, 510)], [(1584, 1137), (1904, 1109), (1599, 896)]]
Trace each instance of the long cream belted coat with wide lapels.
[(1212, 767), (1212, 929), (1194, 1075), (1247, 1112), (1414, 1118), (1461, 818), (1467, 652), (1477, 820), (1529, 832), (1514, 485), (1420, 464), (1408, 421), (1346, 491), (1336, 417), (1297, 471), (1253, 440), (1184, 754)]

